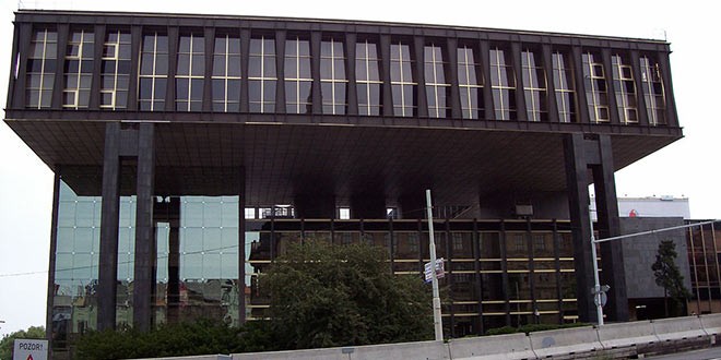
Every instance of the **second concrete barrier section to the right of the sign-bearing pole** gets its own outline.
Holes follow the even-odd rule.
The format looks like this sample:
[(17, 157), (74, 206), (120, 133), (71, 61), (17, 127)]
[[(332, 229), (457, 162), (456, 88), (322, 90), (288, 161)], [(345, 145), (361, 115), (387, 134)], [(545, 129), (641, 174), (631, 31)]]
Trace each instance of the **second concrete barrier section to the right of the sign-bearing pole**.
[(603, 350), (593, 326), (537, 332), (529, 336), (533, 352), (539, 358)]

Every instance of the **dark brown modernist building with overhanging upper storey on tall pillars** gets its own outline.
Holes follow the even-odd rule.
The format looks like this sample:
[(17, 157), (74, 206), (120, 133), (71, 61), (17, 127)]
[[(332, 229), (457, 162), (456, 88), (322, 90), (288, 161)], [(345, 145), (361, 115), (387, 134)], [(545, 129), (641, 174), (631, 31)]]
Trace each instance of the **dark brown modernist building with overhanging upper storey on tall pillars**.
[[(669, 44), (356, 21), (20, 11), (4, 121), (56, 173), (48, 328), (262, 317), (308, 237), (428, 261), (452, 336), (594, 321), (588, 185), (681, 139)], [(600, 247), (606, 312), (628, 309)]]

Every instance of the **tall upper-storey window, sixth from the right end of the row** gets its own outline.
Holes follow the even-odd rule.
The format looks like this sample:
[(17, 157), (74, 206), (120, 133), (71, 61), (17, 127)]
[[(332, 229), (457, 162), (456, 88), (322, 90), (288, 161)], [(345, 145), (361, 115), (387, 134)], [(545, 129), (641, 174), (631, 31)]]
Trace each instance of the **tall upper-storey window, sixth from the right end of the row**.
[(490, 49), (490, 92), (496, 120), (516, 120), (516, 75), (506, 50)]

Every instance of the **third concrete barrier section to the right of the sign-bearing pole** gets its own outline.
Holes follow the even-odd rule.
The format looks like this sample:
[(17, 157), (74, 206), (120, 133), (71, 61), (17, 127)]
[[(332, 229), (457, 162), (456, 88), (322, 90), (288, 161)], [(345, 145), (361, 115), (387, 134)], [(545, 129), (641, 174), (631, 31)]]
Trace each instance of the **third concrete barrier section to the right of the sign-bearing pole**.
[(606, 324), (596, 328), (599, 340), (606, 349), (658, 343), (650, 321)]

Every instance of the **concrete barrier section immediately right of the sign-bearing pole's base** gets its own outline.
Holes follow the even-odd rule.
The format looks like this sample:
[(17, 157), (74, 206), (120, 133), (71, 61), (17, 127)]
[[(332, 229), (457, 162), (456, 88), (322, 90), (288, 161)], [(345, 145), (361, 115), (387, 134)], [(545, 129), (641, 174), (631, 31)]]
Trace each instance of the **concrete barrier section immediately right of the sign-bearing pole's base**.
[(452, 359), (535, 359), (531, 339), (523, 333), (453, 339), (448, 345)]

